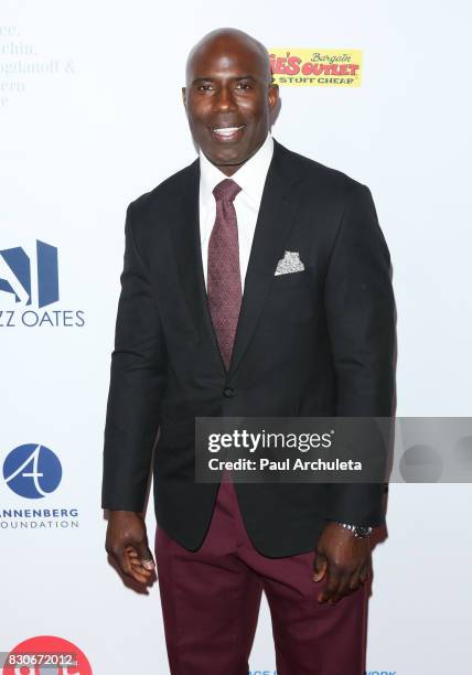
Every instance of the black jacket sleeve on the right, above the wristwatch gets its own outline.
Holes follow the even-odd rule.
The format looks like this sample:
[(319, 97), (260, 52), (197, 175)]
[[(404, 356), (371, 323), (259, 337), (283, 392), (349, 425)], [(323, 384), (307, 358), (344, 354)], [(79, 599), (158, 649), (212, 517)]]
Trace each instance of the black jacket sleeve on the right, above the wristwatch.
[[(348, 186), (329, 265), (325, 310), (339, 417), (390, 417), (394, 404), (395, 302), (390, 256), (368, 188)], [(369, 443), (369, 452), (375, 443)], [(378, 451), (386, 453), (385, 447)], [(331, 483), (329, 518), (382, 525), (384, 483)]]

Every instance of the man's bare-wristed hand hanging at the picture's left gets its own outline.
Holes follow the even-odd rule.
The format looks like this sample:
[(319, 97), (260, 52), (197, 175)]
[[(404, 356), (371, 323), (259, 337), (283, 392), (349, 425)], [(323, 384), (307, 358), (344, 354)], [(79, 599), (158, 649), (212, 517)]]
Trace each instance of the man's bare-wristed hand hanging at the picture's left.
[(149, 581), (155, 565), (140, 513), (109, 512), (105, 549), (124, 575), (141, 583)]

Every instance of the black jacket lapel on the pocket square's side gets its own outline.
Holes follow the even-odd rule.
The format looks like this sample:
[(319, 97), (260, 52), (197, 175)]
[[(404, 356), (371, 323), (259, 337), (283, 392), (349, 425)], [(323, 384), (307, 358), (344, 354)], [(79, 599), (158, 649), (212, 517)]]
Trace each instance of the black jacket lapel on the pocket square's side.
[(294, 172), (290, 152), (276, 140), (273, 157), (260, 202), (246, 272), (242, 310), (237, 325), (228, 377), (239, 366), (260, 317), (273, 280), (277, 262), (283, 256), (298, 205), (293, 184), (300, 180)]

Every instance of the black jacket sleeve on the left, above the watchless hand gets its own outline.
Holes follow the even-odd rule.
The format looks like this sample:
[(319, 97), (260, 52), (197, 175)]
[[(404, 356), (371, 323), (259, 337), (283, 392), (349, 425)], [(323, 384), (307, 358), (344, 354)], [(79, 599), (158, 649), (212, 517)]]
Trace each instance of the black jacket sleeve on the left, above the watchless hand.
[(136, 247), (132, 204), (127, 211), (125, 239), (105, 426), (101, 507), (141, 512), (159, 429), (167, 351), (158, 298)]

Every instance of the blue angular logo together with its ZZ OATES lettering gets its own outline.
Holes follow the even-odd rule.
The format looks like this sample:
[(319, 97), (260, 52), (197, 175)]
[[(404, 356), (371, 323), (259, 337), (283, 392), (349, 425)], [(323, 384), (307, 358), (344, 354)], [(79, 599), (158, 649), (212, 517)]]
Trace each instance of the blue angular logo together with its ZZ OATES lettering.
[(0, 250), (0, 328), (83, 326), (82, 310), (43, 308), (60, 301), (57, 248), (36, 240), (26, 253)]

